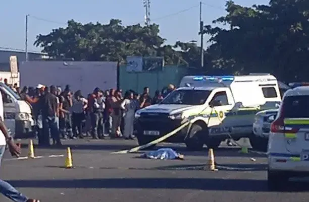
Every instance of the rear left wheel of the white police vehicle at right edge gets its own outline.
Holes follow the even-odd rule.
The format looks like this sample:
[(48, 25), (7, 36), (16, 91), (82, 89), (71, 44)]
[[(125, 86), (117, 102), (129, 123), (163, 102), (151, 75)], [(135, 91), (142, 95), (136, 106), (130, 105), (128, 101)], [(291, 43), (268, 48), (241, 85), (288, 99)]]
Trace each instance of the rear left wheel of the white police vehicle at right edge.
[(270, 191), (280, 191), (287, 184), (289, 177), (286, 173), (267, 170), (267, 187)]

